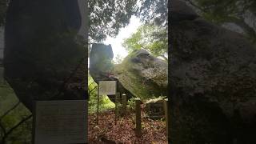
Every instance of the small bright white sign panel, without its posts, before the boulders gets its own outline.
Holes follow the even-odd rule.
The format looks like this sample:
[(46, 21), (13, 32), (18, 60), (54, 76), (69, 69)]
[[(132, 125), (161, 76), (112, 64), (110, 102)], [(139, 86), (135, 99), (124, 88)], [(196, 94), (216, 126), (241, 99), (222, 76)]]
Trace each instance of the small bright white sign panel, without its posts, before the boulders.
[(117, 82), (116, 81), (99, 81), (99, 95), (104, 94), (115, 94), (117, 89)]

